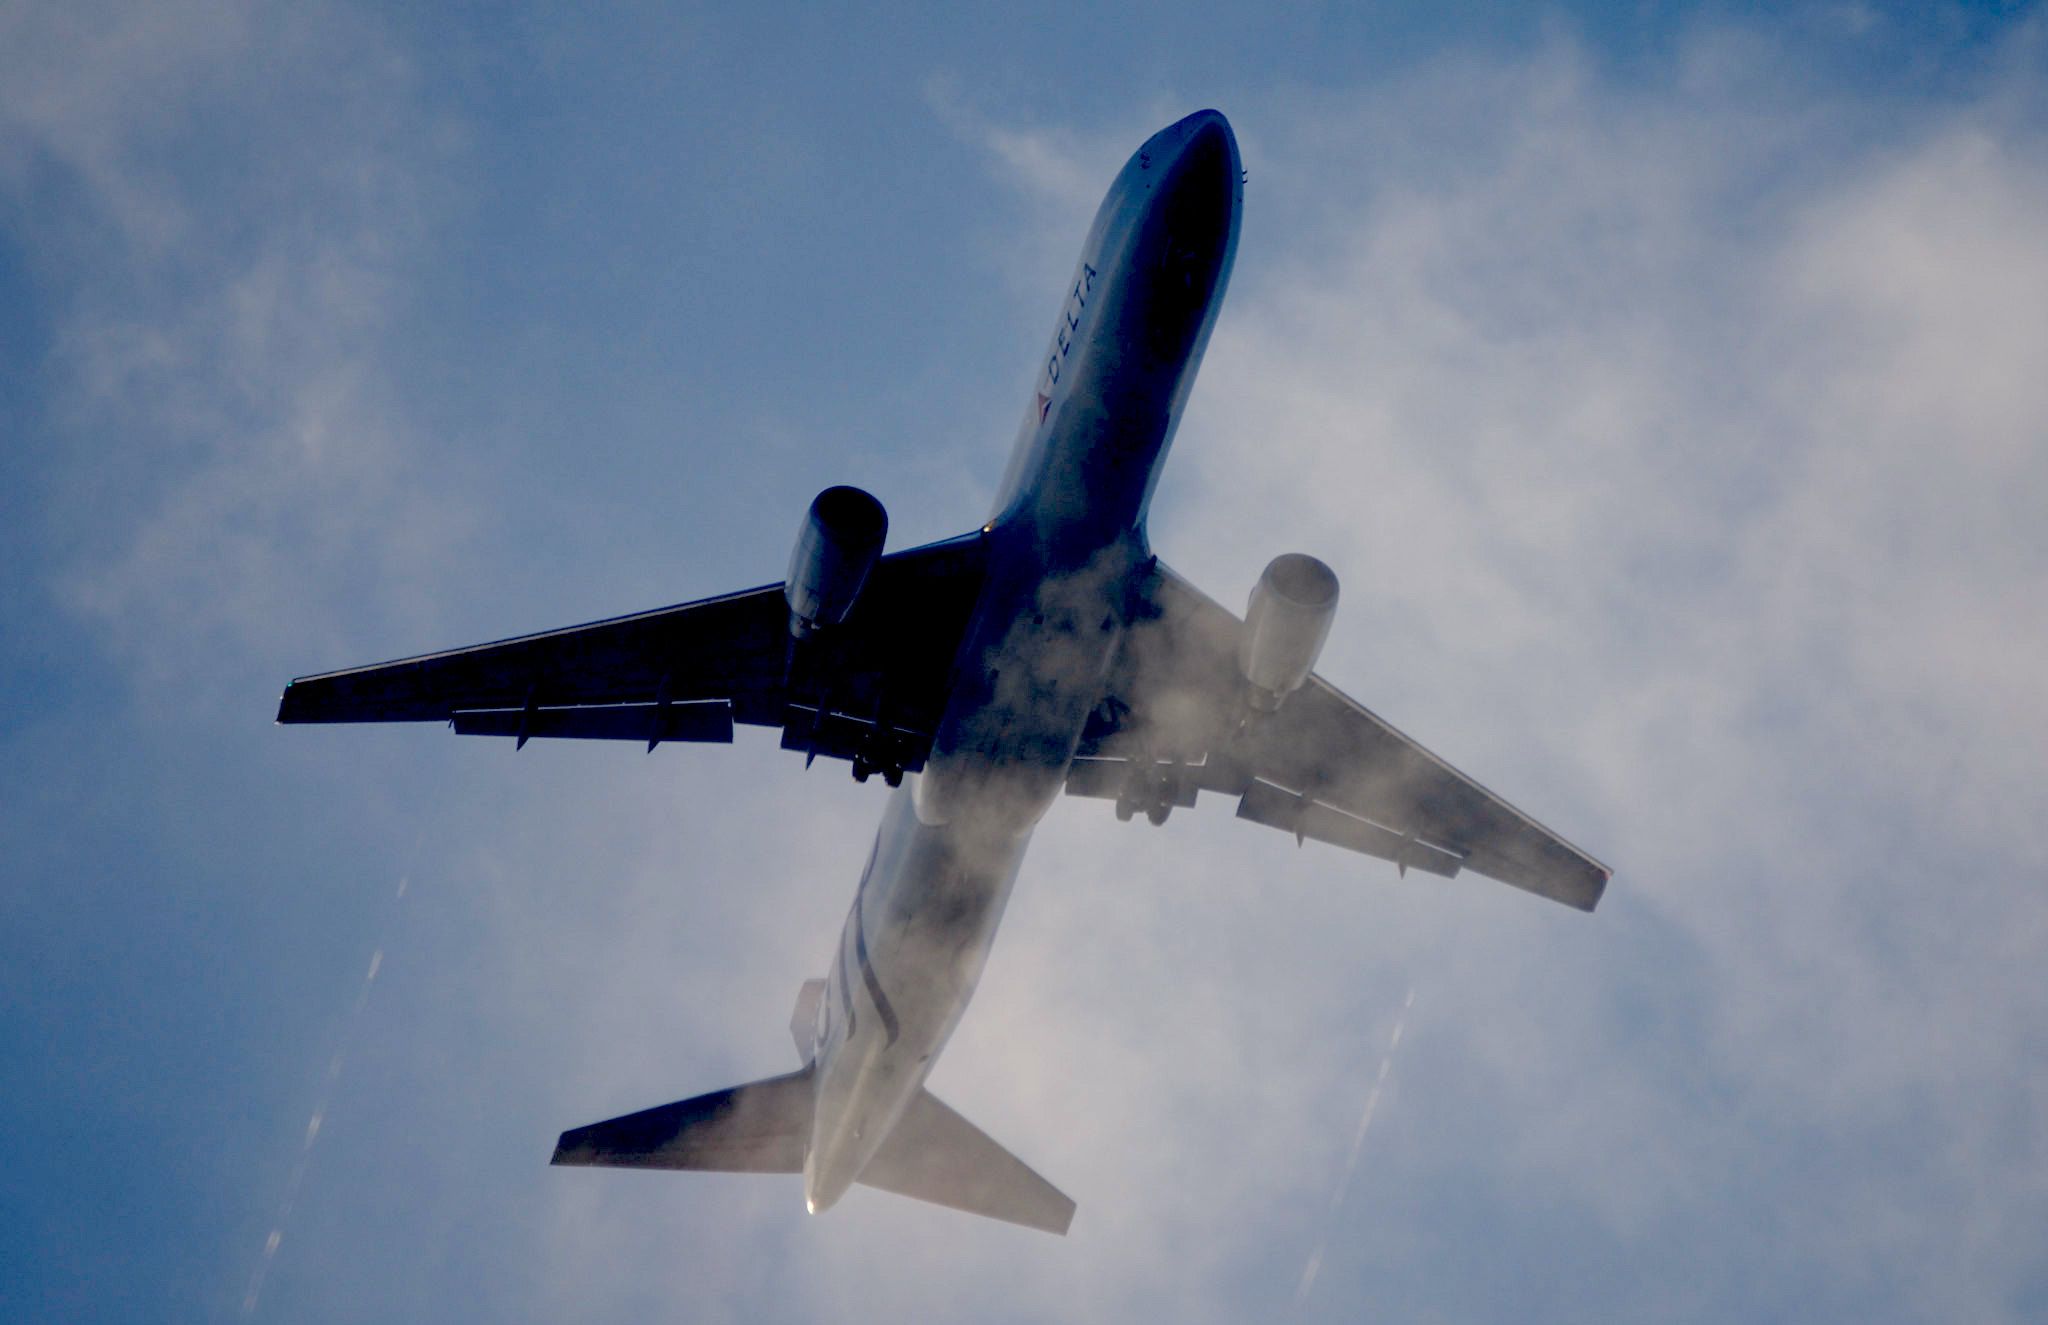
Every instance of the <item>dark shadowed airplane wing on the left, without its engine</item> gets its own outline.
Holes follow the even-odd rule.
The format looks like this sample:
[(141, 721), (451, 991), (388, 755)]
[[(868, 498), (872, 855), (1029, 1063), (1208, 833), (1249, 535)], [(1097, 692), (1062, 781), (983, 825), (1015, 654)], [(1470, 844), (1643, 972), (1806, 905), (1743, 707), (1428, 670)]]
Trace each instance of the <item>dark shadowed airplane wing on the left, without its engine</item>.
[[(301, 676), (281, 723), (446, 721), (463, 735), (731, 741), (891, 772), (930, 754), (981, 594), (981, 535), (883, 557), (846, 623), (793, 649), (780, 584), (446, 653)], [(858, 770), (858, 764), (856, 764)]]

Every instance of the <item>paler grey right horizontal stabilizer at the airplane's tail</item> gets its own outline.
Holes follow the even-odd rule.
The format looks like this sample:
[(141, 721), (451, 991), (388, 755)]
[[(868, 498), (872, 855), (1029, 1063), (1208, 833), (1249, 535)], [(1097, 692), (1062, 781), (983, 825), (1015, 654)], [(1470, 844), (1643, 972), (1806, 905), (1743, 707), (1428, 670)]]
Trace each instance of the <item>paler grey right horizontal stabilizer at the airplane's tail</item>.
[(1047, 1233), (1073, 1223), (1059, 1188), (928, 1089), (911, 1098), (860, 1184)]

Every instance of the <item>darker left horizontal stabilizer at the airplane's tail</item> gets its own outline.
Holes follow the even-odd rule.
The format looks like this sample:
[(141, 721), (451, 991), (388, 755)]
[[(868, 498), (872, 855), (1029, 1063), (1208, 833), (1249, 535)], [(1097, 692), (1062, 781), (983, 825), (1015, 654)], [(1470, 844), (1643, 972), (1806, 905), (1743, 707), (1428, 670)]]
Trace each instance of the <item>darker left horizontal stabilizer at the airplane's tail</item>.
[(811, 1069), (715, 1089), (561, 1135), (549, 1163), (799, 1173), (811, 1145)]

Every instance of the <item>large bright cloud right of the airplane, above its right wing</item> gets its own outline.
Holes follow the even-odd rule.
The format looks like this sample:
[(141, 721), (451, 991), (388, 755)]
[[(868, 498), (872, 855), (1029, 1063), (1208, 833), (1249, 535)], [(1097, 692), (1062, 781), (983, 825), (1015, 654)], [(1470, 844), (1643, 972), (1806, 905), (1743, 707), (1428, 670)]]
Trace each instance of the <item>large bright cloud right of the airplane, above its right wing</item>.
[[(1765, 188), (1786, 145), (1759, 152), (1755, 111), (1538, 92), (1477, 162), (1335, 188), (1329, 238), (1225, 315), (1184, 440), (1206, 483), (1161, 547), (1257, 565), (1284, 528), (1260, 512), (1298, 494), (1288, 524), (1352, 571), (1327, 657), (1616, 862), (1612, 942), (1651, 907), (1700, 946), (1700, 1053), (1765, 1116), (1851, 1139), (1839, 1190), (1788, 1198), (1843, 1221), (1870, 1274), (1942, 1237), (1866, 1225), (1872, 1186), (2048, 1194), (2032, 1147), (1989, 1141), (2038, 1116), (2013, 1063), (2048, 1012), (2011, 942), (2048, 917), (2048, 152), (1964, 111), (1868, 149), (1794, 141), (1847, 158)], [(1325, 176), (1333, 152), (1325, 131)], [(1282, 207), (1319, 207), (1307, 174)], [(1245, 496), (1223, 475), (1249, 436)], [(1518, 1096), (1593, 1073), (1632, 1098), (1548, 1182), (1620, 1182), (1616, 1214), (1692, 1200), (1686, 1167), (1602, 1161), (1686, 1124), (1683, 1083), (1602, 1040), (1538, 1065), (1577, 1032), (1522, 1030), (1497, 1044)], [(1985, 1149), (1894, 1151), (1907, 1118)], [(1974, 1257), (1989, 1235), (1954, 1237)], [(2023, 1251), (1991, 1241), (2015, 1290)]]

